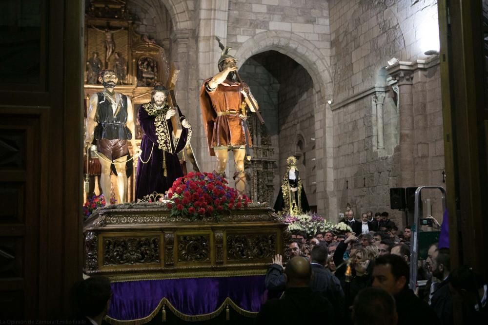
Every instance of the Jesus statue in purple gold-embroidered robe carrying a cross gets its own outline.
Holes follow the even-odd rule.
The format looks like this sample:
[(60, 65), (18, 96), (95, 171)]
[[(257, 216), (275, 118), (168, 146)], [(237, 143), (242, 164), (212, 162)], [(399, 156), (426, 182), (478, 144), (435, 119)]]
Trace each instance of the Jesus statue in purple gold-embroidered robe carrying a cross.
[[(151, 93), (151, 102), (142, 104), (139, 108), (138, 118), (144, 135), (141, 142), (142, 153), (137, 163), (137, 199), (153, 192), (164, 193), (178, 177), (183, 176), (178, 153), (190, 141), (191, 126), (177, 105), (174, 108), (168, 105), (168, 95), (166, 87), (156, 86)], [(178, 110), (183, 126), (178, 138), (173, 135), (171, 123), (175, 110)]]

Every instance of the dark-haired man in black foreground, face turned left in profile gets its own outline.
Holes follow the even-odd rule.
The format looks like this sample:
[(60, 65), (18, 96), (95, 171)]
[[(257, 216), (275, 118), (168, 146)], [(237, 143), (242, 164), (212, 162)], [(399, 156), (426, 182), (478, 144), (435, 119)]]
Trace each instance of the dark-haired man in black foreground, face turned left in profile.
[(440, 325), (434, 310), (408, 288), (409, 279), (407, 262), (400, 256), (386, 254), (376, 259), (372, 286), (386, 290), (395, 298), (398, 325)]

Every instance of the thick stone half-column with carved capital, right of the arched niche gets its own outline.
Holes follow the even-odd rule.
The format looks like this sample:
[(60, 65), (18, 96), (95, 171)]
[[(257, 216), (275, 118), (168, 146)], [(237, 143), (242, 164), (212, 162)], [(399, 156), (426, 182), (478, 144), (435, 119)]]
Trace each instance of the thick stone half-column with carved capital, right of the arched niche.
[[(400, 114), (400, 179), (401, 186), (415, 184), (413, 100), (412, 100), (412, 62), (397, 62), (386, 68), (392, 81), (398, 85), (397, 107)], [(391, 82), (390, 82), (391, 84)]]

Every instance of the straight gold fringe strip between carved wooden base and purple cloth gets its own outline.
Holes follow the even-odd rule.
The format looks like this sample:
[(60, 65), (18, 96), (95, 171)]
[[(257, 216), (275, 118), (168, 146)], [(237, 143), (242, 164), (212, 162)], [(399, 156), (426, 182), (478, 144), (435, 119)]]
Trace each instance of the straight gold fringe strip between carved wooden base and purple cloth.
[(180, 273), (151, 273), (151, 274), (132, 274), (132, 275), (116, 275), (108, 276), (111, 282), (130, 282), (143, 280), (175, 280), (188, 278), (222, 278), (229, 276), (253, 276), (264, 275), (266, 270), (250, 269), (250, 270), (229, 270), (229, 271), (202, 271), (202, 272), (180, 272)]

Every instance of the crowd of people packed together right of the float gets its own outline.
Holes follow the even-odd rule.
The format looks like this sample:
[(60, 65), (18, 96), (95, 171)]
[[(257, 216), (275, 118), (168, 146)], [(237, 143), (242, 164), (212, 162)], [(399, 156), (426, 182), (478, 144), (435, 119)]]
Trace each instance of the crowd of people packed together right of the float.
[[(399, 231), (388, 213), (342, 222), (353, 231), (292, 233), (288, 263), (276, 255), (265, 277), (268, 301), (256, 324), (470, 324), (487, 317), (487, 285), (472, 269), (450, 271), (447, 248), (433, 244), (419, 263), (423, 290), (408, 287), (411, 228)], [(469, 293), (468, 293), (469, 292)], [(453, 301), (462, 306), (453, 312)], [(455, 320), (458, 320), (456, 322)], [(462, 321), (463, 323), (459, 323)]]

